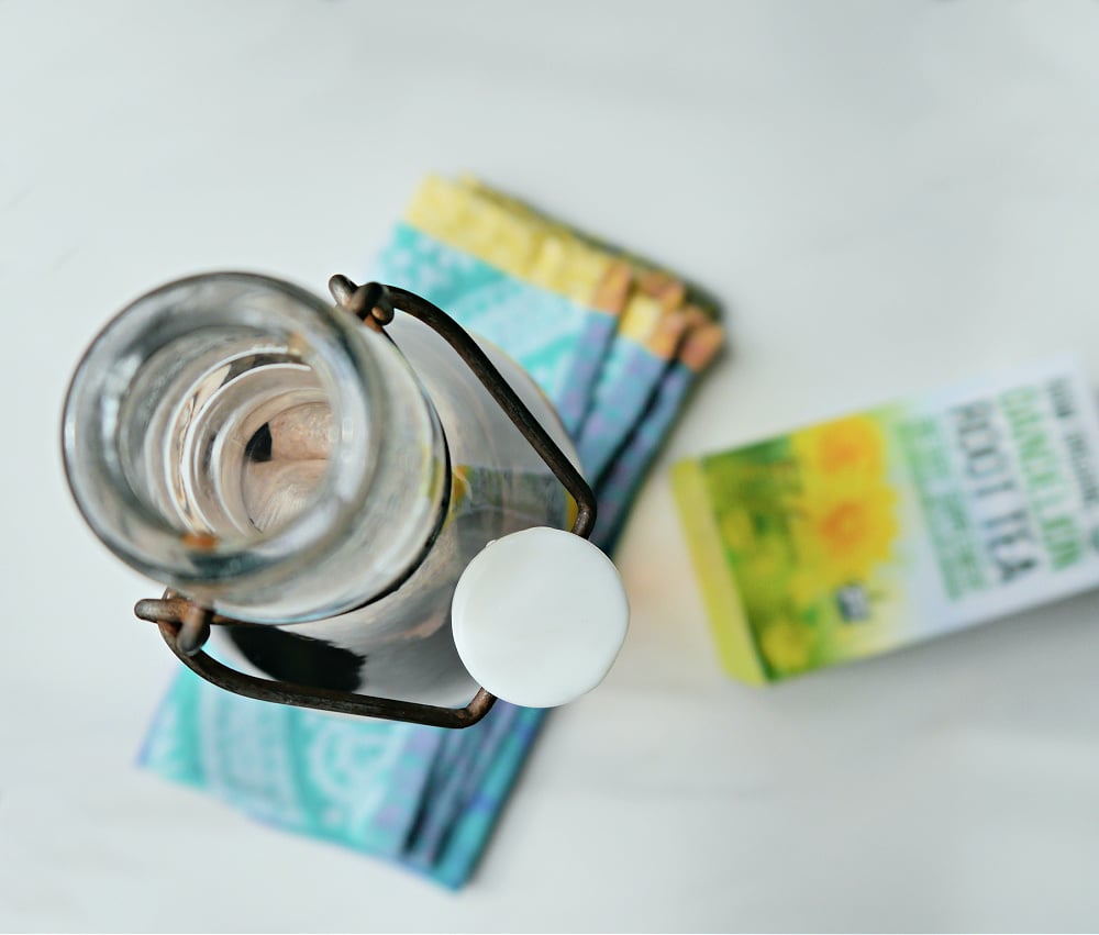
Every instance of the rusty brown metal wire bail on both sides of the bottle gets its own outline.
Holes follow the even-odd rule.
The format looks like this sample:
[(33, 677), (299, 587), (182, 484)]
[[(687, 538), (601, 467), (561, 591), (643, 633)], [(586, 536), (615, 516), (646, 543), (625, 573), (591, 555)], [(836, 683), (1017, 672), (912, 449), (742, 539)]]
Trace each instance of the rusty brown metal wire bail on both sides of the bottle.
[[(591, 535), (596, 523), (596, 499), (591, 488), (462, 325), (426, 299), (396, 286), (380, 282), (356, 286), (346, 276), (336, 275), (329, 280), (329, 289), (340, 308), (356, 315), (367, 327), (384, 333), (396, 312), (401, 311), (419, 319), (446, 341), (576, 501), (571, 532), (584, 538)], [(171, 590), (165, 591), (160, 599), (138, 601), (134, 612), (142, 620), (157, 624), (168, 648), (191, 671), (218, 688), (259, 701), (436, 727), (468, 727), (480, 721), (496, 703), (496, 695), (485, 688), (479, 688), (465, 708), (455, 709), (257, 678), (230, 668), (202, 652), (211, 625), (232, 625), (241, 621), (215, 614)]]

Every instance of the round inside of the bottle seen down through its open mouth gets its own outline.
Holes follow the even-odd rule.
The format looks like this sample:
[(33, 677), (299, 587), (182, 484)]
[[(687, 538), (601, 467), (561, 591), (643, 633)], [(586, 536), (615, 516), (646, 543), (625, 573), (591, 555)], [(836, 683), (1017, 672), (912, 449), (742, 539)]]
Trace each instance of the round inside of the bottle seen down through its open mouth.
[(246, 546), (321, 493), (336, 420), (291, 345), (244, 327), (187, 333), (143, 361), (121, 400), (129, 486), (195, 545)]

